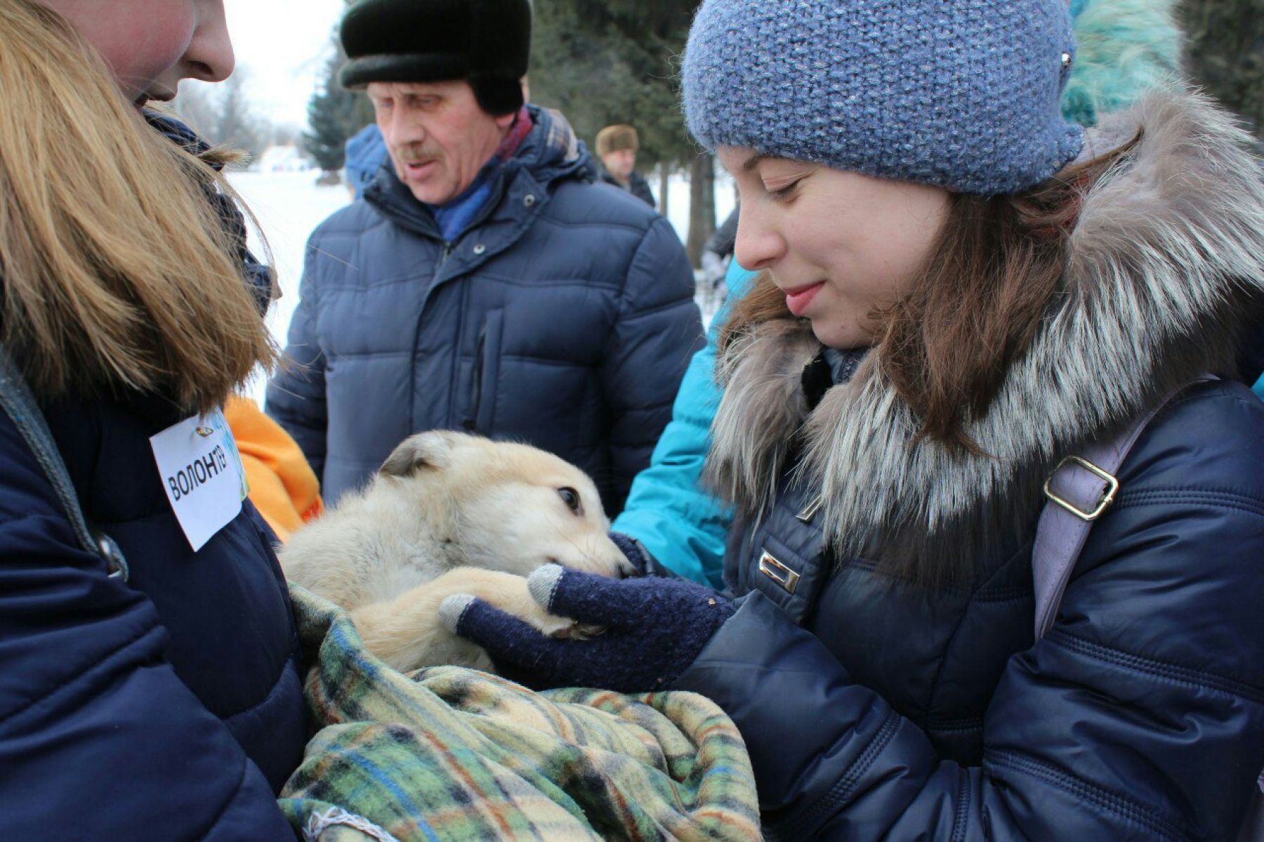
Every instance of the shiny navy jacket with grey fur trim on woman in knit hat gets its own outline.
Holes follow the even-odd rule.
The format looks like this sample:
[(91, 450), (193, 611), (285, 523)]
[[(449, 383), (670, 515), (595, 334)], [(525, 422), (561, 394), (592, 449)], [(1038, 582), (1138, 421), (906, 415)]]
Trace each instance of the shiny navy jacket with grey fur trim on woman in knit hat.
[[(708, 470), (747, 512), (744, 599), (674, 688), (741, 728), (770, 838), (1236, 838), (1264, 769), (1264, 403), (1230, 375), (1264, 185), (1206, 105), (1143, 114), (1064, 298), (968, 427), (983, 454), (911, 446), (881, 344), (820, 355), (786, 319), (722, 354)], [(1036, 641), (1044, 478), (1170, 392)], [(958, 575), (901, 575), (887, 546)]]

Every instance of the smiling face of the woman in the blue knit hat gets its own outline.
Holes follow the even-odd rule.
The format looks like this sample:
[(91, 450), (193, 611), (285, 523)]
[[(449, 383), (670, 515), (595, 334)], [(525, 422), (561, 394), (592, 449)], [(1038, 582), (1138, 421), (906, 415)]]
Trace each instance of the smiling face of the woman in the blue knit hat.
[(742, 211), (734, 257), (767, 271), (830, 348), (872, 344), (871, 314), (909, 290), (948, 216), (948, 191), (720, 147)]

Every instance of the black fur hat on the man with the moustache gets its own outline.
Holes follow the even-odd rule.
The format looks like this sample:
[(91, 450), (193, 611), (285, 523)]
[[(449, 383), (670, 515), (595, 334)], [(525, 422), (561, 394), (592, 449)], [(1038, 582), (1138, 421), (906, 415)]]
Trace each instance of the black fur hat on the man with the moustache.
[(343, 87), (469, 80), (488, 114), (522, 107), (528, 0), (362, 0), (343, 18)]

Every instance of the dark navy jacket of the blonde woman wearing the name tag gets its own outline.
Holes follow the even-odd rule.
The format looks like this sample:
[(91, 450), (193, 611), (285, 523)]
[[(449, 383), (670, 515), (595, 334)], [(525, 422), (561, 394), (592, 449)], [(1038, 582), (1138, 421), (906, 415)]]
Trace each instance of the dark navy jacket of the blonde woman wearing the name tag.
[(246, 501), (192, 552), (149, 437), (159, 396), (46, 403), (87, 520), (80, 549), (0, 413), (0, 826), (21, 839), (292, 839), (276, 793), (306, 740), (273, 536)]

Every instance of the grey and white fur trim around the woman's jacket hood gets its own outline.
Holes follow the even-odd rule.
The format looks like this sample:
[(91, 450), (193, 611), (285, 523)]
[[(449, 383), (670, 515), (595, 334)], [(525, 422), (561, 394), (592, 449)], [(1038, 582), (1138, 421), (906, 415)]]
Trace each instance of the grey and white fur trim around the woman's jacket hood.
[(881, 345), (809, 412), (800, 377), (822, 346), (806, 321), (786, 319), (718, 363), (712, 487), (753, 516), (801, 448), (839, 558), (877, 551), (956, 578), (1030, 527), (1060, 458), (1203, 372), (1232, 374), (1241, 322), (1264, 293), (1260, 167), (1234, 120), (1188, 94), (1154, 94), (1105, 119), (1086, 156), (1138, 128), (1130, 161), (1083, 202), (1049, 317), (987, 413), (966, 422), (990, 455), (914, 444), (919, 421), (885, 375)]

